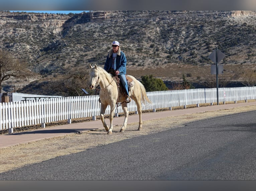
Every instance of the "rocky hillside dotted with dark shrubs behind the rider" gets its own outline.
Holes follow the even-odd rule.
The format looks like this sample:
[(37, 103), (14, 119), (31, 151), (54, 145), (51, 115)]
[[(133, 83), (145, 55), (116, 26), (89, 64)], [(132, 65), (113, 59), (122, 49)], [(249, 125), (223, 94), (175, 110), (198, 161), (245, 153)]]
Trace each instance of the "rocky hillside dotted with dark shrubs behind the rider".
[(226, 55), (220, 78), (239, 82), (242, 73), (255, 70), (255, 29), (256, 11), (0, 11), (0, 47), (35, 72), (32, 79), (5, 82), (4, 91), (15, 86), (23, 93), (58, 94), (40, 92), (41, 83), (86, 71), (89, 64), (103, 66), (113, 40), (126, 54), (127, 74), (138, 80), (150, 74), (166, 84), (181, 81), (182, 74), (198, 84), (214, 79), (208, 56), (218, 47)]

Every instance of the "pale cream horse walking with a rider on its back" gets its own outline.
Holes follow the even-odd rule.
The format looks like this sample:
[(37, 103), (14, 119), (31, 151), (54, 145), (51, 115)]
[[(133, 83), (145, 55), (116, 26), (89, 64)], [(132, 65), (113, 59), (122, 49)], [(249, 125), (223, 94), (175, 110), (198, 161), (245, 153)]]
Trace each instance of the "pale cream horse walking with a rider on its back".
[[(149, 98), (147, 97), (146, 90), (144, 86), (139, 82), (137, 79), (135, 79), (133, 76), (126, 75), (132, 79), (134, 82), (134, 86), (130, 87), (129, 95), (130, 98), (133, 99), (137, 105), (138, 114), (139, 114), (139, 127), (138, 130), (142, 129), (142, 106), (141, 103), (146, 104), (151, 103)], [(101, 111), (100, 111), (100, 119), (102, 121), (103, 126), (105, 127), (105, 130), (107, 131), (107, 134), (112, 134), (113, 129), (113, 118), (114, 118), (114, 111), (116, 104), (120, 103), (122, 106), (122, 109), (124, 111), (124, 123), (123, 126), (120, 129), (120, 132), (124, 132), (127, 125), (128, 120), (128, 108), (127, 103), (125, 102), (125, 96), (120, 93), (121, 91), (118, 90), (118, 85), (116, 81), (114, 80), (114, 76), (108, 73), (103, 68), (97, 66), (96, 64), (92, 66), (90, 64), (90, 84), (89, 88), (91, 90), (96, 89), (98, 85), (100, 85), (100, 100), (101, 100)], [(121, 85), (120, 85), (121, 86)], [(121, 87), (120, 87), (121, 88)], [(109, 114), (109, 120), (110, 120), (110, 127), (106, 124), (104, 120), (104, 113), (106, 111), (107, 106), (110, 105), (110, 114)]]

